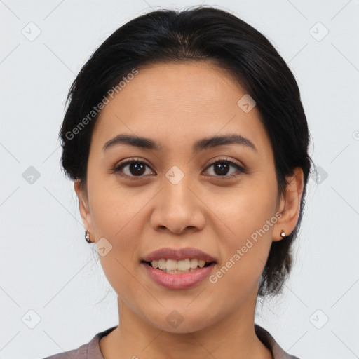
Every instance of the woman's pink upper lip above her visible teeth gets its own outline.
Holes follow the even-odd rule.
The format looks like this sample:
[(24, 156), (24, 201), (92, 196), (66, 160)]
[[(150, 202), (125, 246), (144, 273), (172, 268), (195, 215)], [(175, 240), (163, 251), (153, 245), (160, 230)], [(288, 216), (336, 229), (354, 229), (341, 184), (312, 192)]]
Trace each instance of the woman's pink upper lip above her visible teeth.
[(170, 248), (170, 247), (161, 248), (144, 256), (142, 260), (144, 262), (151, 262), (154, 259), (161, 259), (161, 258), (175, 259), (177, 261), (187, 258), (196, 258), (196, 259), (203, 259), (205, 260), (205, 262), (216, 262), (215, 258), (213, 258), (212, 256), (208, 255), (202, 250), (198, 250), (197, 248), (193, 248), (193, 247), (186, 247), (179, 249)]

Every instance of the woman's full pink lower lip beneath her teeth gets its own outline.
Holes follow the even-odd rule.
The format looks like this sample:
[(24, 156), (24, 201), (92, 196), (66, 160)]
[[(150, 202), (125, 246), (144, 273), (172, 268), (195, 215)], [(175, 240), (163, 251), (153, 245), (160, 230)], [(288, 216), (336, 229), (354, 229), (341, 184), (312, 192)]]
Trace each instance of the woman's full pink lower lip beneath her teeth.
[(210, 266), (198, 268), (193, 272), (176, 274), (165, 273), (159, 269), (154, 269), (144, 262), (142, 262), (141, 265), (144, 266), (149, 276), (159, 285), (168, 289), (187, 289), (194, 287), (208, 277), (215, 266), (215, 262), (210, 264)]

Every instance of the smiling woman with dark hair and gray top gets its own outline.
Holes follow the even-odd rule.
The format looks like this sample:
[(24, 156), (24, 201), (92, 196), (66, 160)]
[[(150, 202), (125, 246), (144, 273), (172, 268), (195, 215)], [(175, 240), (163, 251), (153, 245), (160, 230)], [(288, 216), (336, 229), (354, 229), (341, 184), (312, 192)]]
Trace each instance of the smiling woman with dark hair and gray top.
[(297, 83), (215, 8), (153, 11), (83, 66), (62, 166), (119, 325), (51, 359), (297, 358), (255, 324), (291, 269), (311, 172)]

